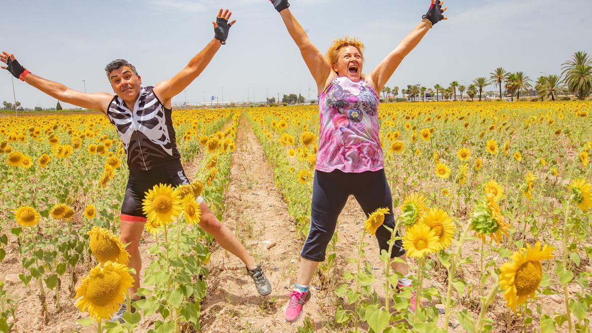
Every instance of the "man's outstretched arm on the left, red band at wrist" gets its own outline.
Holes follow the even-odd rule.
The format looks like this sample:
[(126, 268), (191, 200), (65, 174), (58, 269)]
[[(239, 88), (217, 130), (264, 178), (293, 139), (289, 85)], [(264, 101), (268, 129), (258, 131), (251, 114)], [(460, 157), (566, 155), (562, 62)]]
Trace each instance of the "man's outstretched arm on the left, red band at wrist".
[(27, 82), (33, 87), (45, 92), (47, 95), (50, 95), (53, 98), (57, 98), (57, 100), (62, 102), (74, 104), (83, 108), (89, 108), (91, 110), (99, 110), (102, 113), (106, 113), (108, 105), (113, 98), (113, 95), (107, 94), (106, 92), (86, 94), (85, 92), (75, 91), (63, 84), (49, 81), (48, 79), (41, 78), (41, 76), (34, 75), (28, 71), (28, 69), (22, 67), (11, 53), (3, 51), (0, 55), (0, 60), (7, 64), (7, 66), (1, 66), (1, 68), (7, 69), (12, 74), (12, 76)]

